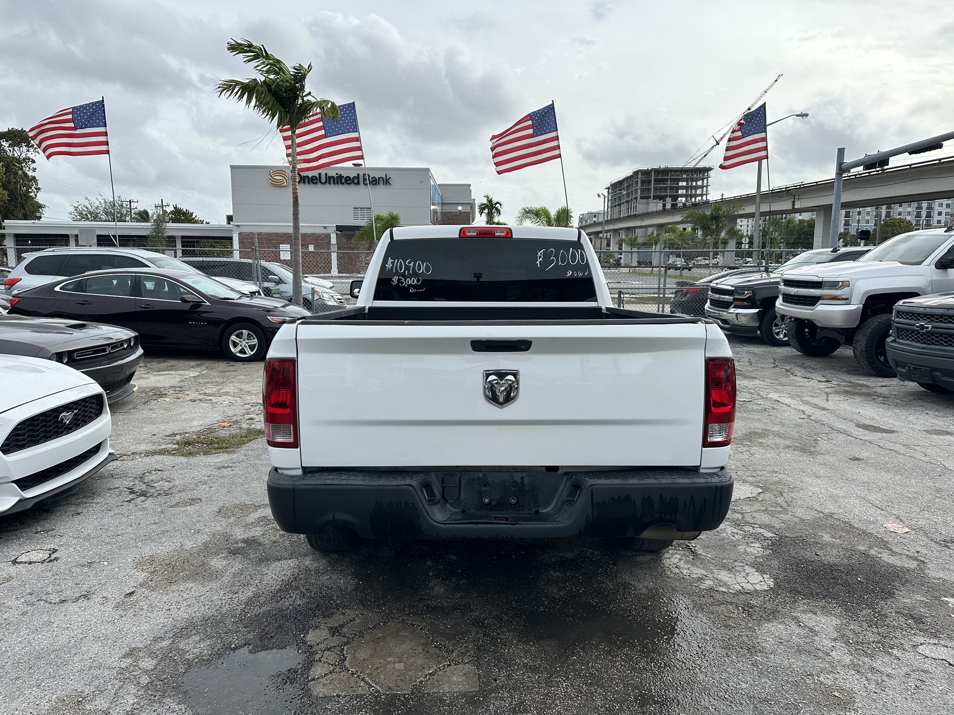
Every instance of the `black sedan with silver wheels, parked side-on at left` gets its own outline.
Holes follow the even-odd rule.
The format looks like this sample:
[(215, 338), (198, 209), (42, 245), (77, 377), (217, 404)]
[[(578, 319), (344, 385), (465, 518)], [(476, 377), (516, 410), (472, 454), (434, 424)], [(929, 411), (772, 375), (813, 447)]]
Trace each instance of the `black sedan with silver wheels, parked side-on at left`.
[(144, 348), (221, 350), (239, 362), (263, 358), (286, 318), (311, 315), (283, 300), (245, 296), (209, 276), (157, 268), (94, 271), (10, 302), (14, 315), (111, 323), (135, 330)]

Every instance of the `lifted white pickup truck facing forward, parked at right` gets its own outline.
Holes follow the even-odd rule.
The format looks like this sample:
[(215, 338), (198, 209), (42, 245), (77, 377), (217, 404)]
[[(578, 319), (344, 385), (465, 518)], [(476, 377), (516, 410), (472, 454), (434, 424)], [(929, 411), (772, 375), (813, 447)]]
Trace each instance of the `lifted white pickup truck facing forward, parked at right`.
[(781, 276), (778, 315), (789, 344), (822, 358), (849, 344), (861, 369), (891, 378), (885, 341), (906, 298), (954, 291), (954, 227), (896, 235), (853, 263), (822, 263)]

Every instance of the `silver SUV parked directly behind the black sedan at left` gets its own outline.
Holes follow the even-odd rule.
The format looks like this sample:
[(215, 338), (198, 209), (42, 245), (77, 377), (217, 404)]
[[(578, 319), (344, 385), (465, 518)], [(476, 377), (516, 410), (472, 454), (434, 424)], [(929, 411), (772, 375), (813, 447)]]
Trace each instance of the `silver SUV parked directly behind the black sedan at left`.
[[(59, 277), (80, 276), (90, 271), (110, 268), (169, 268), (176, 271), (201, 273), (196, 267), (170, 255), (141, 248), (109, 248), (108, 246), (73, 246), (48, 248), (23, 256), (16, 268), (4, 280), (7, 295), (46, 285)], [(246, 296), (260, 296), (254, 283), (230, 278), (216, 278)]]

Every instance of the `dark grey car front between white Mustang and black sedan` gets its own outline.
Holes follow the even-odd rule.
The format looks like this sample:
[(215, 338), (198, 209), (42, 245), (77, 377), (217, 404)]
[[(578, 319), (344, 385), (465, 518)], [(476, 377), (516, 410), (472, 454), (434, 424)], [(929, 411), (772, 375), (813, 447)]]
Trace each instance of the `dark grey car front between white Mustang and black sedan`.
[(135, 392), (133, 376), (142, 362), (131, 330), (51, 317), (0, 316), (0, 355), (69, 365), (96, 380), (110, 403)]

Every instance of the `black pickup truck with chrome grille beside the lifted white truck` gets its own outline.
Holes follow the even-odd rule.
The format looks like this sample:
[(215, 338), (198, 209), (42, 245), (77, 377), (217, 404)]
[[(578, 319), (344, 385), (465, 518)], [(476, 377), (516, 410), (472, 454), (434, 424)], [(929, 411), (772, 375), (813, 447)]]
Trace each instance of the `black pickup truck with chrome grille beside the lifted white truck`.
[(709, 289), (706, 316), (726, 333), (758, 336), (769, 345), (788, 345), (786, 318), (775, 310), (781, 276), (793, 268), (814, 263), (858, 260), (867, 248), (816, 249), (796, 255), (772, 273), (727, 276), (714, 281)]

